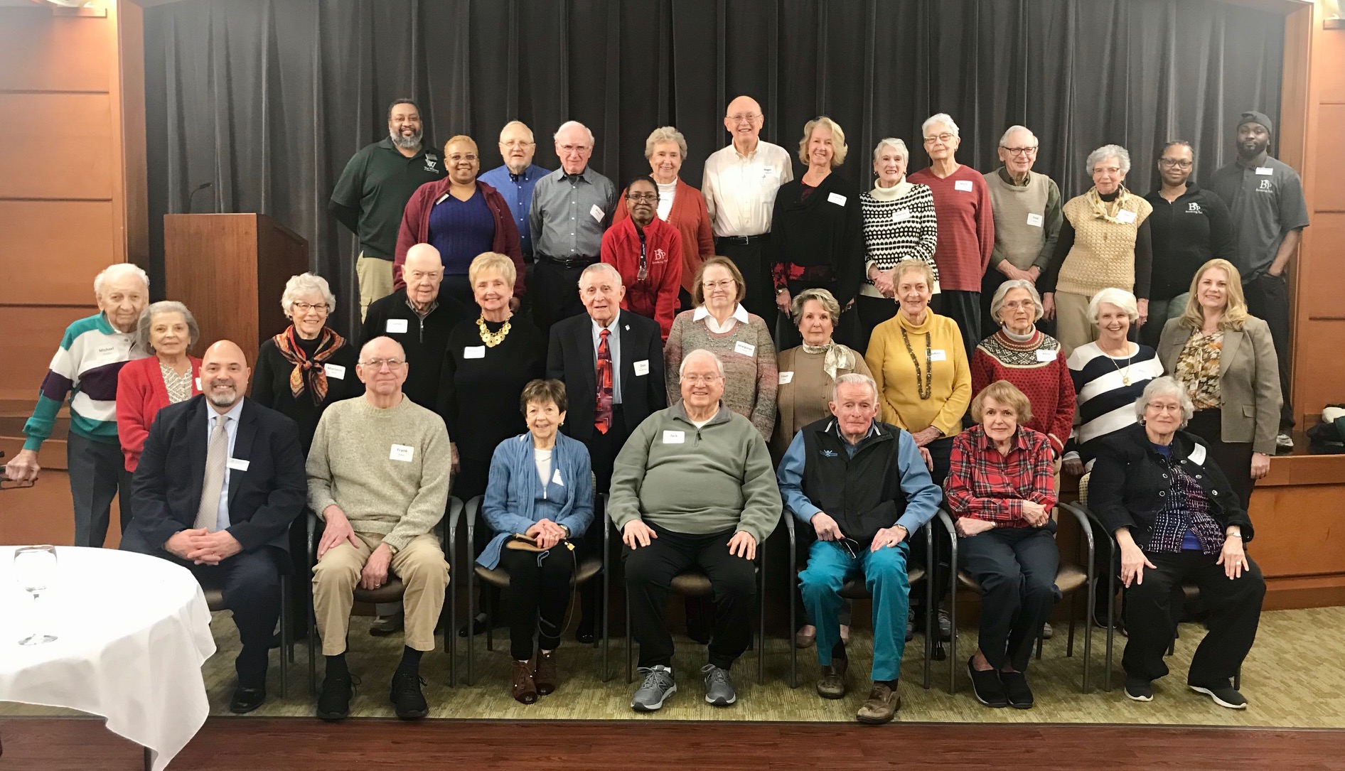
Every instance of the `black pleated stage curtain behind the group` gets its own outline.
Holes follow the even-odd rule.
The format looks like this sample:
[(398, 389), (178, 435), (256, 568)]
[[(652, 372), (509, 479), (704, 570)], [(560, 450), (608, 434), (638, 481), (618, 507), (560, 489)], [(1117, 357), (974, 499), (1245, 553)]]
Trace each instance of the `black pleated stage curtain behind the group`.
[[(347, 159), (386, 136), (394, 97), (418, 101), (425, 135), (473, 136), (482, 170), (500, 126), (597, 136), (593, 167), (619, 186), (648, 171), (644, 137), (675, 125), (682, 178), (699, 187), (728, 143), (724, 108), (752, 94), (763, 137), (798, 147), (829, 114), (846, 129), (839, 170), (855, 191), (886, 136), (928, 164), (920, 124), (947, 112), (958, 159), (986, 171), (1013, 124), (1041, 140), (1037, 170), (1069, 196), (1088, 152), (1130, 149), (1132, 190), (1155, 180), (1169, 139), (1197, 179), (1227, 161), (1244, 109), (1276, 120), (1283, 17), (1217, 0), (183, 0), (145, 11), (152, 266), (163, 287), (165, 213), (260, 211), (308, 238), (351, 328), (354, 238), (327, 214)], [(796, 174), (802, 166), (795, 160)], [(278, 297), (277, 297), (278, 301)], [(269, 332), (269, 331), (264, 331)]]

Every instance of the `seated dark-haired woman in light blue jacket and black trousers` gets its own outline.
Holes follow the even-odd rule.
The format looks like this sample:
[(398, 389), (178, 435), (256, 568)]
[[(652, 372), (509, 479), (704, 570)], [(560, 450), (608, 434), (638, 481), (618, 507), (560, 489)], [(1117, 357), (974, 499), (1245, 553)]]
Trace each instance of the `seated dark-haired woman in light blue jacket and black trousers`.
[[(565, 383), (531, 381), (519, 401), (529, 433), (506, 439), (491, 457), (482, 515), (495, 538), (476, 561), (508, 572), (503, 604), (514, 655), (511, 694), (534, 704), (557, 686), (555, 647), (578, 564), (573, 544), (593, 521), (593, 471), (584, 443), (558, 431), (565, 423)], [(507, 548), (516, 534), (542, 550)]]

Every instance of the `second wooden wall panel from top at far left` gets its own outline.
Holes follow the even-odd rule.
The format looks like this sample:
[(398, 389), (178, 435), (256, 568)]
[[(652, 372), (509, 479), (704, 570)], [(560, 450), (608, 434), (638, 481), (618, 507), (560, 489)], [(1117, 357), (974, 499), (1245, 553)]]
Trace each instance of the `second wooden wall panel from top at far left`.
[[(110, 200), (120, 166), (112, 120), (105, 93), (0, 93), (0, 198)], [(46, 147), (34, 143), (39, 128)]]

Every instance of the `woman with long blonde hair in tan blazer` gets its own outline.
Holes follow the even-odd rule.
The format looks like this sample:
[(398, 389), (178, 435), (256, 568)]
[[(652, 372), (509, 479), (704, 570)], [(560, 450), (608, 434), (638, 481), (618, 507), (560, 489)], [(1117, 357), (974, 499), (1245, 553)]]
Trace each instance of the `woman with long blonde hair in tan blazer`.
[(1210, 260), (1196, 272), (1186, 312), (1163, 326), (1158, 359), (1196, 405), (1186, 431), (1209, 444), (1245, 509), (1270, 471), (1282, 394), (1270, 327), (1247, 315), (1232, 262)]

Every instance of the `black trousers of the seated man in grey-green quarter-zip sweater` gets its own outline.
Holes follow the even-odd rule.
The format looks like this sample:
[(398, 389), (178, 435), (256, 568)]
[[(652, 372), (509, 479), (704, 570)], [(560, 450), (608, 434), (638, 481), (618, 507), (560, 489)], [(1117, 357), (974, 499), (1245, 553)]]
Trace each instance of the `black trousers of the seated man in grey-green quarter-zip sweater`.
[(658, 538), (648, 546), (623, 546), (625, 592), (631, 603), (631, 634), (640, 643), (640, 666), (672, 666), (672, 635), (663, 623), (672, 577), (697, 568), (710, 579), (714, 597), (714, 632), (710, 663), (729, 669), (752, 643), (752, 608), (756, 599), (756, 568), (751, 560), (729, 553), (737, 529), (712, 536), (674, 533), (650, 525)]

